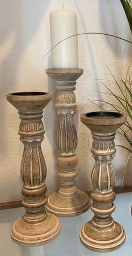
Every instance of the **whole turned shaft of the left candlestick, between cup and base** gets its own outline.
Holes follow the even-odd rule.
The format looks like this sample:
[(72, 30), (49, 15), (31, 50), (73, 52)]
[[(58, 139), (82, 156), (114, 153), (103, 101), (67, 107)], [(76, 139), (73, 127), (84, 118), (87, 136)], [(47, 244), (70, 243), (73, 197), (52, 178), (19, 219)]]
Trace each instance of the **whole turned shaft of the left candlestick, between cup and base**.
[[(46, 196), (43, 193), (46, 193), (46, 163), (41, 150), (45, 132), (41, 120), (43, 111), (27, 111), (19, 112), (19, 114), (21, 119), (19, 134), (21, 135), (20, 140), (24, 144), (21, 177), (23, 181), (22, 194), (25, 197), (22, 204), (29, 214), (41, 212), (45, 218), (46, 212), (43, 206), (46, 203)], [(33, 194), (34, 197), (32, 197)], [(33, 207), (35, 208), (33, 209)], [(39, 222), (39, 218), (32, 219), (31, 216), (28, 216), (26, 221), (36, 223)]]

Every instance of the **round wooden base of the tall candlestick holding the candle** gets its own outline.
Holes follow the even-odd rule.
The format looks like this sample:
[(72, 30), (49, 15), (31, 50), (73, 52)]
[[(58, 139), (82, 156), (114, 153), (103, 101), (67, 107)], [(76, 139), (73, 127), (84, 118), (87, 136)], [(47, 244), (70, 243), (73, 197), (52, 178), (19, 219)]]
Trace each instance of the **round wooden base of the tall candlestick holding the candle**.
[(49, 196), (45, 208), (56, 216), (72, 217), (86, 212), (90, 203), (89, 196), (81, 190), (71, 197), (62, 197), (55, 192)]

